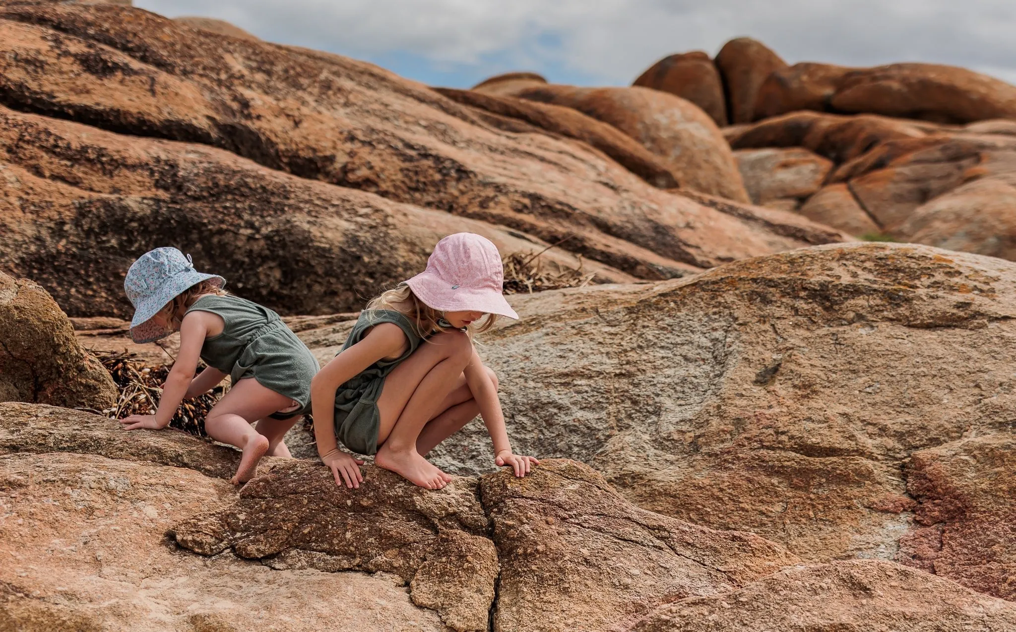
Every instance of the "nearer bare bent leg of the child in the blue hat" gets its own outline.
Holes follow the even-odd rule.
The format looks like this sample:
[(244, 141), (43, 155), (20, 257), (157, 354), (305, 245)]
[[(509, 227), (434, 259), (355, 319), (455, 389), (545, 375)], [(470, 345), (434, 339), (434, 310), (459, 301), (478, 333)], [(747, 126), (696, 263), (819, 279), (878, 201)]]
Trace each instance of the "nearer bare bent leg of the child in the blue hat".
[(208, 436), (243, 450), (240, 467), (230, 481), (234, 485), (254, 478), (257, 463), (268, 451), (268, 438), (251, 426), (290, 404), (291, 399), (265, 388), (255, 379), (240, 380), (212, 406), (204, 420)]

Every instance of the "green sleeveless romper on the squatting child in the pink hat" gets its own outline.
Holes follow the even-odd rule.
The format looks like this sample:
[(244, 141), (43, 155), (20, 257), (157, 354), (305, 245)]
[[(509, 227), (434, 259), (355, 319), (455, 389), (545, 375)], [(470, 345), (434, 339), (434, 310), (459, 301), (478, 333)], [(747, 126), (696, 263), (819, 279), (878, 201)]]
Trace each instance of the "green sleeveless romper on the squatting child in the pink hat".
[(390, 310), (365, 311), (360, 314), (339, 354), (362, 340), (368, 329), (386, 322), (394, 323), (402, 329), (409, 342), (408, 349), (395, 360), (375, 362), (335, 391), (335, 436), (342, 445), (359, 454), (374, 454), (378, 451), (378, 430), (381, 427), (378, 397), (384, 388), (384, 380), (424, 340), (409, 319), (402, 314)]

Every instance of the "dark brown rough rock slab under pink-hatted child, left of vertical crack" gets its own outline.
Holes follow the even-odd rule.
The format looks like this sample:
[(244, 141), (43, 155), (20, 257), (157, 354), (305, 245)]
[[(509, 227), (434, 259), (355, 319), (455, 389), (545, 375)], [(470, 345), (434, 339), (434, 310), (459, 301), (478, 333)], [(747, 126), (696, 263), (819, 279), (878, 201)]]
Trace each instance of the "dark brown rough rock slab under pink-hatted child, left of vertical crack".
[(173, 538), (201, 555), (232, 549), (276, 569), (392, 573), (449, 627), (487, 630), (498, 556), (475, 485), (459, 479), (432, 494), (368, 466), (354, 491), (320, 462), (292, 461), (249, 483), (226, 510), (176, 525)]

